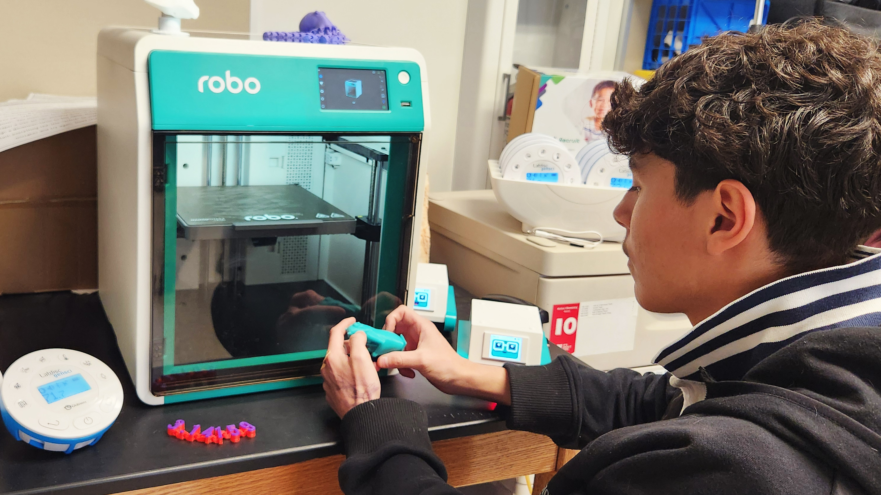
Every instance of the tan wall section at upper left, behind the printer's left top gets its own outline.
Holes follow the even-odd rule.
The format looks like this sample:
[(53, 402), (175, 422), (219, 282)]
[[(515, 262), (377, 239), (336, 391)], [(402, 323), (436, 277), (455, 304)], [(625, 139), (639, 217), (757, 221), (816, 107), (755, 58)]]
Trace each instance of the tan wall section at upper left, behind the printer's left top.
[[(248, 0), (196, 0), (184, 29), (248, 32)], [(156, 26), (143, 0), (0, 0), (0, 101), (29, 92), (95, 94), (95, 48), (104, 26)]]

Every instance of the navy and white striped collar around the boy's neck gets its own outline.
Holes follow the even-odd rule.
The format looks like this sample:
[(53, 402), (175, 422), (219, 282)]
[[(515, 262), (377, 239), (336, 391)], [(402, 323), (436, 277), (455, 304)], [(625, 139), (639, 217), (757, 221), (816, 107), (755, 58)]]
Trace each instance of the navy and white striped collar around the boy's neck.
[(809, 332), (881, 325), (881, 249), (860, 246), (846, 265), (781, 278), (731, 302), (655, 363), (678, 378), (740, 380), (760, 360)]

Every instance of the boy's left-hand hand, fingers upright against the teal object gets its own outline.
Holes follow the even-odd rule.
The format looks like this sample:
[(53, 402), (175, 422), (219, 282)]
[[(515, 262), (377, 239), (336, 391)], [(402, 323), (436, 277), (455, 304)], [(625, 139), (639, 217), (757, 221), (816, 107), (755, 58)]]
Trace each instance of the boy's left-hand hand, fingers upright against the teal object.
[(324, 392), (339, 417), (360, 403), (380, 397), (380, 377), (367, 351), (366, 334), (356, 332), (344, 340), (345, 330), (354, 322), (354, 318), (346, 318), (330, 329), (328, 353), (322, 364)]

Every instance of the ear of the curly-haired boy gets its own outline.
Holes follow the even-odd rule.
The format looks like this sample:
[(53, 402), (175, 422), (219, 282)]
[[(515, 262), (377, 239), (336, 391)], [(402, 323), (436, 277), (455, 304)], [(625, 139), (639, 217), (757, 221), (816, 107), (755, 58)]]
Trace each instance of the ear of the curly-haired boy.
[(707, 253), (721, 255), (751, 233), (756, 222), (756, 201), (743, 182), (726, 179), (713, 191), (712, 205), (714, 218), (707, 236)]

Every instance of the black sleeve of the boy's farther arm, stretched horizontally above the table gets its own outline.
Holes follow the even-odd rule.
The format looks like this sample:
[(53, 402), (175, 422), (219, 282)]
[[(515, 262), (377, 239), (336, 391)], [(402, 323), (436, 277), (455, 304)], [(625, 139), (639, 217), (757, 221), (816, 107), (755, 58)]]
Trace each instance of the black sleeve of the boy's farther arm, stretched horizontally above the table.
[(566, 448), (661, 419), (677, 392), (669, 373), (601, 372), (568, 356), (545, 366), (505, 367), (511, 386), (507, 427), (547, 435)]

